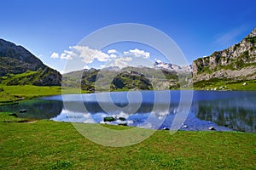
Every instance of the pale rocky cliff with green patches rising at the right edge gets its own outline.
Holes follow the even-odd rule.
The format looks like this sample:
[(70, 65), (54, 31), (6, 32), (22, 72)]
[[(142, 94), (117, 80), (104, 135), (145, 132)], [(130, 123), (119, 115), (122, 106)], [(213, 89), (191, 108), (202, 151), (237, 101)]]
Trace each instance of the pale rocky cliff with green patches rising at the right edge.
[(195, 82), (212, 78), (256, 78), (256, 28), (241, 42), (214, 52), (212, 55), (195, 59), (193, 77)]

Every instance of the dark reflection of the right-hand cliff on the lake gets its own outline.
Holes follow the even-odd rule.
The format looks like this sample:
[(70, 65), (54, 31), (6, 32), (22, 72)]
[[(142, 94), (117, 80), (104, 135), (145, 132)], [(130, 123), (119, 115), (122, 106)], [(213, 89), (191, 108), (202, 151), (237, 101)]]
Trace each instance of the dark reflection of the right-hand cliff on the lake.
[(195, 116), (242, 132), (256, 133), (256, 96), (196, 101)]

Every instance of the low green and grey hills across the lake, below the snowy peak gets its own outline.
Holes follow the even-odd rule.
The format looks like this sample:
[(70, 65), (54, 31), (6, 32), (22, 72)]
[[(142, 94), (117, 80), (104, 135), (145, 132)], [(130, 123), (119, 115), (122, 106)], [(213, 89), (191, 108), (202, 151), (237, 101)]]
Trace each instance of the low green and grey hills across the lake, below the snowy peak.
[[(161, 65), (168, 65), (161, 63)], [(151, 89), (176, 89), (179, 82), (186, 79), (190, 72), (174, 71), (155, 65), (153, 68), (128, 66), (107, 67), (100, 69), (84, 69), (72, 71), (63, 75), (62, 85), (73, 88), (82, 88), (90, 93), (97, 91), (115, 90), (151, 90)]]

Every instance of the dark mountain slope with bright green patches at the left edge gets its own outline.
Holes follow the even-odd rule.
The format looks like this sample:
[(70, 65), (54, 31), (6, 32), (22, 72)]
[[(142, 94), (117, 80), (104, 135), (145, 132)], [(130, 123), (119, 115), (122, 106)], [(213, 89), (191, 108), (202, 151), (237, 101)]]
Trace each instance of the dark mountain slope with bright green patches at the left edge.
[(60, 86), (61, 74), (26, 48), (0, 39), (0, 82), (5, 85)]

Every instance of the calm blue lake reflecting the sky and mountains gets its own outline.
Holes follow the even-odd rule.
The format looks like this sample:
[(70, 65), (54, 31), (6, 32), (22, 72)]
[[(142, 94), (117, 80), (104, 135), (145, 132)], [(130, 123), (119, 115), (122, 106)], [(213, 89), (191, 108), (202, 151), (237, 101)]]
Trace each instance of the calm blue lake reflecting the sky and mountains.
[[(220, 131), (255, 133), (255, 101), (255, 91), (136, 91), (50, 96), (2, 106), (0, 111), (57, 122), (126, 123), (157, 129), (178, 122), (182, 130), (215, 127)], [(27, 112), (21, 114), (21, 109)], [(106, 116), (117, 120), (103, 122)]]

